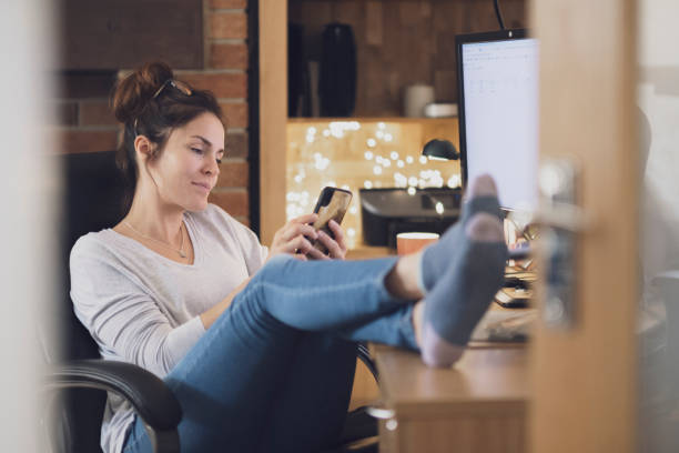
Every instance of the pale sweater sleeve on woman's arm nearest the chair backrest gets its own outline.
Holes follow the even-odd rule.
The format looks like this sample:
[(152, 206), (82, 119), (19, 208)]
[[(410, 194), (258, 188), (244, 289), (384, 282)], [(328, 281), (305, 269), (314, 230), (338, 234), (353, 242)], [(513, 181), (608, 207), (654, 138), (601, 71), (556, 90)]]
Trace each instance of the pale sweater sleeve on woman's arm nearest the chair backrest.
[(179, 324), (140, 279), (105, 248), (80, 241), (71, 253), (75, 314), (104, 358), (120, 358), (164, 376), (205, 332), (200, 318)]

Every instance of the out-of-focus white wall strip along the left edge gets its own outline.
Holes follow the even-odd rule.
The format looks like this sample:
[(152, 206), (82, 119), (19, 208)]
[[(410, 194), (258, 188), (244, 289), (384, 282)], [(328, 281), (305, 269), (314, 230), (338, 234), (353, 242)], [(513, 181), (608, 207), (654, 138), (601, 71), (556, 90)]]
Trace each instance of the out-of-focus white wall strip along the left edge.
[(55, 245), (51, 192), (57, 173), (44, 155), (53, 42), (50, 0), (3, 0), (0, 7), (0, 452), (38, 446), (36, 323), (53, 294)]

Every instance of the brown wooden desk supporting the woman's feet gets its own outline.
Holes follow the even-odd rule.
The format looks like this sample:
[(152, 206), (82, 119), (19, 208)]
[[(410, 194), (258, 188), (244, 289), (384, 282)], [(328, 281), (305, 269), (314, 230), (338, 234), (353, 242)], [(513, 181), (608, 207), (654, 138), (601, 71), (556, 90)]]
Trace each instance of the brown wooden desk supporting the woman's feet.
[(394, 411), (379, 424), (381, 453), (527, 450), (525, 348), (469, 349), (446, 370), (388, 346), (374, 354), (384, 405)]

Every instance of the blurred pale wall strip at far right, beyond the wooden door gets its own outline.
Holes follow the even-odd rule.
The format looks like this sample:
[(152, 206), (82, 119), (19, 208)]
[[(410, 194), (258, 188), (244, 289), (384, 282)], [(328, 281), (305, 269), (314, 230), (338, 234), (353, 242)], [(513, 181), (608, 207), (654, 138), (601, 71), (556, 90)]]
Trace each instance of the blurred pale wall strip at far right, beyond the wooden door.
[(679, 291), (672, 289), (665, 294), (655, 280), (679, 270), (678, 19), (677, 0), (639, 1), (638, 102), (651, 128), (640, 211), (643, 298), (639, 451), (649, 453), (679, 451), (679, 423), (668, 422), (668, 411), (679, 406), (675, 401), (679, 396), (679, 368), (672, 368), (679, 344), (668, 335), (677, 334), (679, 322), (666, 311), (666, 303), (679, 304)]

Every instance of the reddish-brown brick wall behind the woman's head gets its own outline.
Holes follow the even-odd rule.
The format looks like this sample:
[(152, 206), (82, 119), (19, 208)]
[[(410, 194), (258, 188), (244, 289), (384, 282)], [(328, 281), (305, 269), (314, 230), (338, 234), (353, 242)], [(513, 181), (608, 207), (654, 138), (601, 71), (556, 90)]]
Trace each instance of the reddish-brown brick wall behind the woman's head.
[[(178, 70), (179, 79), (214, 92), (225, 114), (226, 157), (210, 201), (250, 224), (247, 162), (247, 0), (203, 0), (205, 67)], [(122, 68), (121, 68), (122, 69)], [(54, 131), (63, 152), (113, 150), (119, 125), (109, 109), (118, 72), (60, 76)]]

